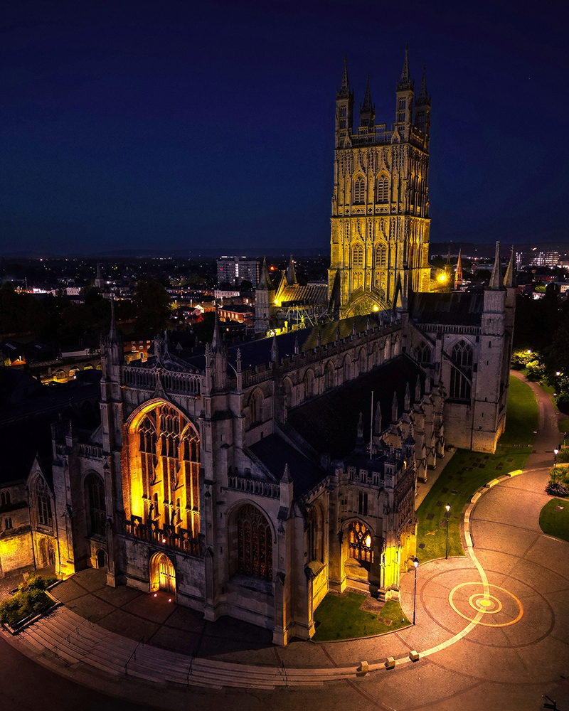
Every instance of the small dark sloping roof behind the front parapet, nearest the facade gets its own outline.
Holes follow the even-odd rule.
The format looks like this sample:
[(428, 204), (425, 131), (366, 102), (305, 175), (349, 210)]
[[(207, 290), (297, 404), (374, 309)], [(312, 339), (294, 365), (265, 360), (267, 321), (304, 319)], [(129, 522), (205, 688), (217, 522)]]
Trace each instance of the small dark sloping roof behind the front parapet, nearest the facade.
[(302, 496), (326, 476), (324, 469), (310, 461), (298, 449), (294, 449), (278, 434), (263, 437), (249, 449), (265, 464), (277, 481), (282, 479), (285, 465), (288, 464), (295, 497)]

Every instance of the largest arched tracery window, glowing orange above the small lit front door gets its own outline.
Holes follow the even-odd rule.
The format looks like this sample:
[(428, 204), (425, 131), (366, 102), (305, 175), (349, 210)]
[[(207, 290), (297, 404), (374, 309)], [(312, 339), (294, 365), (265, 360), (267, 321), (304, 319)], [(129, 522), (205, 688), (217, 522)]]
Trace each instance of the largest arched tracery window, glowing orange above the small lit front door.
[(132, 430), (131, 447), (132, 513), (155, 528), (175, 525), (196, 538), (200, 529), (196, 429), (175, 407), (159, 404)]

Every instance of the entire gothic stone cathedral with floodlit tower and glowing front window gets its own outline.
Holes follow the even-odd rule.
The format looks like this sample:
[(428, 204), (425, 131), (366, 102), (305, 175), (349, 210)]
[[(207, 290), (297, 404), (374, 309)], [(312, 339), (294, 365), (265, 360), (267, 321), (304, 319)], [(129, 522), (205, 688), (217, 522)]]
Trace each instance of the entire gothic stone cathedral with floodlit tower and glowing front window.
[[(100, 424), (59, 417), (49, 466), (0, 478), (2, 520), (17, 506), (22, 521), (0, 535), (0, 575), (104, 567), (111, 586), (164, 589), (280, 645), (312, 637), (328, 592), (398, 599), (417, 481), (447, 444), (491, 452), (504, 429), (516, 275), (497, 245), (485, 289), (432, 291), (430, 97), (423, 75), (415, 101), (406, 57), (395, 100), (376, 124), (368, 85), (354, 129), (344, 70), (328, 289), (299, 287), (292, 264), (275, 289), (265, 264), (265, 338), (228, 346), (216, 320), (203, 353), (165, 333), (127, 365), (113, 316)], [(282, 328), (282, 304), (303, 299), (327, 319)]]

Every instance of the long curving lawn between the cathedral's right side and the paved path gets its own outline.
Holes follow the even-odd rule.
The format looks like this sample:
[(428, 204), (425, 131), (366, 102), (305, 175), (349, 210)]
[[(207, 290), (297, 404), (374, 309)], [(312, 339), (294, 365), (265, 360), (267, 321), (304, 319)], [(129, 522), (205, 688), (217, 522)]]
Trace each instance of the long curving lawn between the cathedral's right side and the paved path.
[[(523, 469), (537, 427), (538, 405), (531, 387), (510, 376), (506, 430), (496, 454), (459, 449), (418, 508), (417, 557), (420, 562), (445, 557), (447, 503), (451, 506), (449, 555), (464, 555), (460, 540), (462, 509), (480, 486), (508, 471)], [(514, 444), (523, 447), (514, 447)]]

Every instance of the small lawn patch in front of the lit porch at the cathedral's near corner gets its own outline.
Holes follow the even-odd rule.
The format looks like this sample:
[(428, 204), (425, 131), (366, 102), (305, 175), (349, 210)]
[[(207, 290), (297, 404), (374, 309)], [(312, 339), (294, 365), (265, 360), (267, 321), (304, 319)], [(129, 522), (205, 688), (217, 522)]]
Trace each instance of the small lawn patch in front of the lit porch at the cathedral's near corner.
[[(335, 639), (367, 637), (393, 632), (410, 624), (400, 604), (395, 600), (388, 600), (378, 614), (360, 609), (365, 599), (366, 595), (357, 592), (327, 594), (314, 612), (317, 625), (314, 641), (329, 642)], [(391, 620), (391, 624), (378, 621), (378, 616)]]

